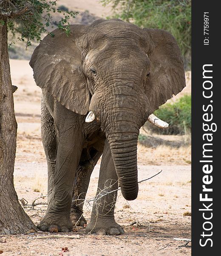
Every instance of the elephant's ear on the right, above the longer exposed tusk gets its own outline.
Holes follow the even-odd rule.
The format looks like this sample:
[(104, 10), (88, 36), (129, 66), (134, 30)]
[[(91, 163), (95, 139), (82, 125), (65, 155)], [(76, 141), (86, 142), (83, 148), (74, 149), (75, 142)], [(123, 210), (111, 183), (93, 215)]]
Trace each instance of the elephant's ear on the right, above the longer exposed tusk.
[(184, 64), (175, 38), (165, 30), (143, 29), (150, 59), (146, 95), (153, 111), (186, 86)]

